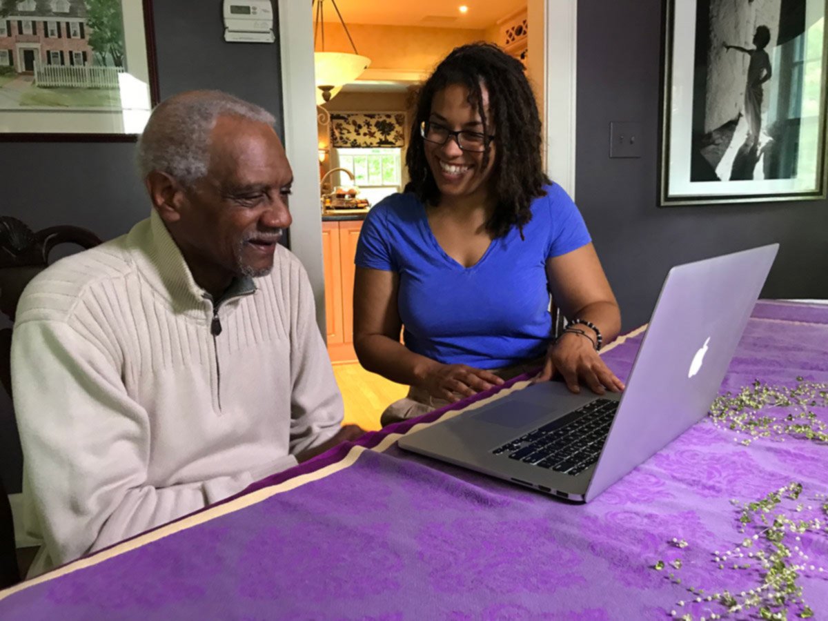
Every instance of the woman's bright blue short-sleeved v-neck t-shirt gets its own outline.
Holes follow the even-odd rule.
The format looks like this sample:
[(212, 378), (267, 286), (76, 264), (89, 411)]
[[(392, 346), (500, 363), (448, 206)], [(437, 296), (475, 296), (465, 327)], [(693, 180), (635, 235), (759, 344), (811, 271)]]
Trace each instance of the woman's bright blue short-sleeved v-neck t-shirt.
[(369, 212), (355, 263), (400, 277), (403, 342), (446, 364), (499, 368), (546, 353), (552, 330), (546, 259), (590, 243), (575, 203), (559, 185), (532, 201), (523, 236), (514, 226), (472, 267), (437, 242), (413, 194), (388, 196)]

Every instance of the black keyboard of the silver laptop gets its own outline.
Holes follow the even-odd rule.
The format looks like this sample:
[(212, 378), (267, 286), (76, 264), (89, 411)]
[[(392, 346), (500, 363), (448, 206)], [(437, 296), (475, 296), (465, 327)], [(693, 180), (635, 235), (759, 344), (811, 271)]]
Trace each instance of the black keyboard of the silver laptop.
[(598, 461), (619, 402), (595, 399), (534, 431), (494, 449), (525, 464), (579, 474)]

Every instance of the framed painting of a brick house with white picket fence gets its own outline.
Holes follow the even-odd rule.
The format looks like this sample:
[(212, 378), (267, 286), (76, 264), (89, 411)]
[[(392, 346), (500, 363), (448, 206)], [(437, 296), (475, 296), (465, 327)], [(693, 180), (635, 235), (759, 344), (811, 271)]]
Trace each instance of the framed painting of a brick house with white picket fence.
[(0, 0), (0, 140), (135, 140), (157, 99), (150, 0)]

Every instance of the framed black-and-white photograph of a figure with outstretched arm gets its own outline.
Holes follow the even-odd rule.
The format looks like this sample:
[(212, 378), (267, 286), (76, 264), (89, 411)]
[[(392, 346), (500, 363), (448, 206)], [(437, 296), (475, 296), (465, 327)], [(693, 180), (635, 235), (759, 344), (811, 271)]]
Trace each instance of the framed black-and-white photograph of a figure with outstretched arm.
[(826, 0), (667, 0), (661, 205), (826, 196)]

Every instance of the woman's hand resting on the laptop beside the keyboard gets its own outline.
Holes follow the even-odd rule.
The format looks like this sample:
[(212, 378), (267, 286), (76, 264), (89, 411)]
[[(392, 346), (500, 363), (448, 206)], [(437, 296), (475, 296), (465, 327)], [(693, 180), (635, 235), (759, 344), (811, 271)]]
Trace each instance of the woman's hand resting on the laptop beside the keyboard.
[(572, 392), (580, 392), (580, 383), (599, 395), (606, 390), (621, 392), (623, 382), (609, 370), (595, 347), (584, 335), (565, 332), (546, 351), (546, 364), (537, 382), (551, 379), (560, 373)]

